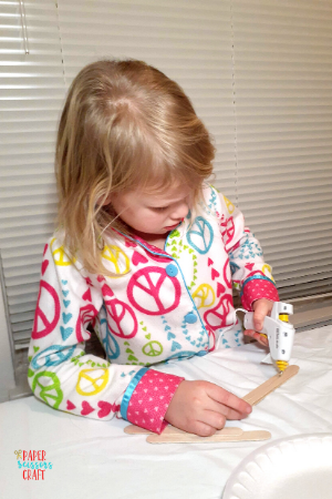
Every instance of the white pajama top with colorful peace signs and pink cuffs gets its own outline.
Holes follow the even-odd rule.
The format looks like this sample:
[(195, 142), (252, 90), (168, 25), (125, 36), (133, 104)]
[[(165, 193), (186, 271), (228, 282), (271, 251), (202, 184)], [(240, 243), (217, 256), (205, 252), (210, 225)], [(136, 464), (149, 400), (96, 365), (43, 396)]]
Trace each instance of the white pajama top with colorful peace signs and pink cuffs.
[[(71, 258), (61, 234), (44, 249), (29, 348), (29, 384), (51, 407), (110, 420), (116, 415), (160, 432), (183, 380), (149, 368), (241, 345), (234, 324), (232, 284), (246, 309), (278, 301), (271, 268), (241, 212), (207, 186), (164, 251), (113, 231), (103, 263), (114, 276), (94, 275)], [(85, 355), (92, 324), (106, 360)]]

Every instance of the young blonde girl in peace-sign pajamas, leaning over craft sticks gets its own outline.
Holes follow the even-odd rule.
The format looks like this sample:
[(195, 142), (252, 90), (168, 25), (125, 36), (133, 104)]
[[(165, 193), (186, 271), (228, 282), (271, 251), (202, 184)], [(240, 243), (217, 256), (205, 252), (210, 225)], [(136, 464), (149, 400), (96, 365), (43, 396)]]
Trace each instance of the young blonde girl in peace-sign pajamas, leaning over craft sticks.
[[(241, 345), (231, 281), (262, 327), (278, 293), (242, 214), (205, 183), (215, 150), (183, 90), (141, 61), (74, 79), (56, 143), (29, 383), (60, 410), (212, 435), (251, 407), (153, 364)], [(96, 332), (107, 360), (85, 355)], [(246, 332), (258, 337), (253, 330)]]

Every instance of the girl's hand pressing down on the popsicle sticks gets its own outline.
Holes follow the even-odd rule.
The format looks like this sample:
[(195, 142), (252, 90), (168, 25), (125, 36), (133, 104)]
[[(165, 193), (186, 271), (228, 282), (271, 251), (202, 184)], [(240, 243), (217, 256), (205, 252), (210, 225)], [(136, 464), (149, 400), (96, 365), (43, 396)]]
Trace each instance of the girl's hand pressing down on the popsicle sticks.
[(181, 381), (170, 400), (166, 421), (200, 437), (224, 428), (227, 419), (243, 419), (251, 406), (236, 395), (208, 381)]

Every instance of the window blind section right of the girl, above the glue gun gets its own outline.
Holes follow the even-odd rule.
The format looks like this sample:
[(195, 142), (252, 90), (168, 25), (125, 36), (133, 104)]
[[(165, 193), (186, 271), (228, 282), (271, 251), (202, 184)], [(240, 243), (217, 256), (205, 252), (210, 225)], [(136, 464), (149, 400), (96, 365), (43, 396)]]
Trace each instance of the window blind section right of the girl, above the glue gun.
[(284, 298), (332, 291), (332, 2), (234, 0), (236, 201)]

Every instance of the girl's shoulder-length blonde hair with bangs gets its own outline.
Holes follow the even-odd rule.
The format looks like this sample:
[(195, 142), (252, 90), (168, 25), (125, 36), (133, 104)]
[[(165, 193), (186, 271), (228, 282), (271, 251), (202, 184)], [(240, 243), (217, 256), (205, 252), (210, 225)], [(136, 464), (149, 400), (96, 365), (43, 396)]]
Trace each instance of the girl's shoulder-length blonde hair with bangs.
[(61, 115), (55, 173), (64, 245), (93, 273), (107, 227), (128, 233), (103, 205), (112, 193), (193, 189), (212, 172), (215, 147), (183, 89), (136, 60), (103, 60), (73, 80)]

